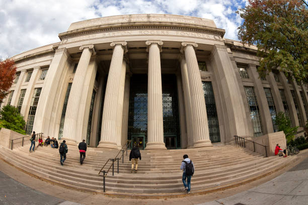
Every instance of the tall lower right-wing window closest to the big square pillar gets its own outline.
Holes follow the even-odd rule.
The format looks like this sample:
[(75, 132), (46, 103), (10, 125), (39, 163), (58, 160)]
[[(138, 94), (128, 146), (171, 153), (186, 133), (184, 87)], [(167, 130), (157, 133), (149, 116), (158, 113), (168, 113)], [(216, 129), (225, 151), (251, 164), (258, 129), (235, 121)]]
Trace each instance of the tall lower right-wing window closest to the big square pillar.
[(250, 118), (254, 128), (254, 136), (259, 137), (262, 135), (262, 123), (255, 89), (251, 86), (244, 86), (244, 88), (249, 105)]

